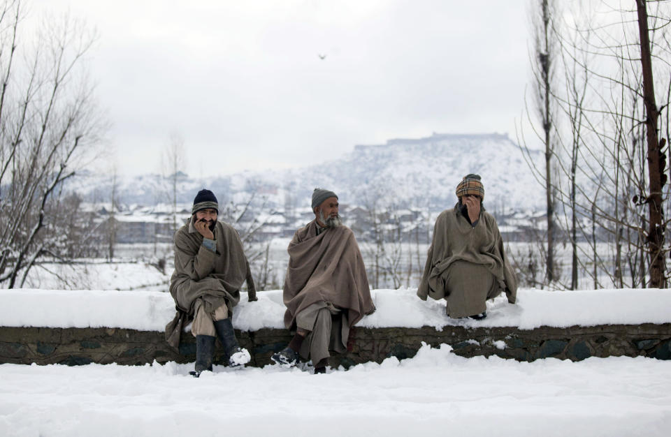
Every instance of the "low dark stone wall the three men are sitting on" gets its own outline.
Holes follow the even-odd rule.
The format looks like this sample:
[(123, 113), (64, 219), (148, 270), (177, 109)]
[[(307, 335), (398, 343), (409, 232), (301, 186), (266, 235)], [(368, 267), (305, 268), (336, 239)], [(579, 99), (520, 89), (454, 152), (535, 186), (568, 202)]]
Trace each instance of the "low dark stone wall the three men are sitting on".
[[(284, 329), (236, 331), (240, 346), (252, 353), (252, 366), (270, 363), (270, 355), (284, 348), (291, 335)], [(579, 361), (587, 357), (653, 357), (671, 359), (671, 323), (663, 325), (600, 325), (568, 328), (433, 327), (352, 329), (347, 354), (331, 358), (345, 367), (382, 362), (387, 357), (413, 357), (421, 343), (447, 343), (463, 357), (498, 355), (519, 361), (555, 357)], [(217, 348), (215, 363), (224, 362)], [(196, 343), (182, 336), (180, 350), (168, 346), (163, 332), (119, 328), (0, 327), (0, 363), (15, 364), (128, 364), (194, 362)]]

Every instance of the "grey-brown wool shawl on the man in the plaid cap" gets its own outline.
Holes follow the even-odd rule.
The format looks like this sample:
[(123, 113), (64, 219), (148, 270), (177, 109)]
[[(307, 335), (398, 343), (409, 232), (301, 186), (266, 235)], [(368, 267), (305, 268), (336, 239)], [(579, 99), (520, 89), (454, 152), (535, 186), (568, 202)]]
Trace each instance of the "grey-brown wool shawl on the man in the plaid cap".
[(496, 219), (481, 210), (475, 226), (468, 223), (459, 210), (441, 212), (433, 227), (433, 240), (428, 249), (424, 274), (421, 276), (417, 296), (441, 299), (445, 297), (444, 274), (453, 262), (463, 260), (486, 267), (505, 290), (508, 302), (514, 304), (517, 295), (517, 277), (503, 251), (503, 239)]

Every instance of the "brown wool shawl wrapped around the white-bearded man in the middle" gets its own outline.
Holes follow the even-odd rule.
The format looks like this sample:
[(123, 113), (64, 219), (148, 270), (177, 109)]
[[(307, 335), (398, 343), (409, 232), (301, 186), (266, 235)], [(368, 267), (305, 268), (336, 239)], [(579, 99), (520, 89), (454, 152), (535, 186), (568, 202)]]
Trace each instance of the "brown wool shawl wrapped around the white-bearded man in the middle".
[(315, 302), (331, 302), (347, 310), (349, 327), (375, 311), (366, 267), (354, 232), (345, 225), (317, 235), (317, 221), (296, 231), (289, 243), (284, 278), (284, 325), (296, 325), (296, 314)]

